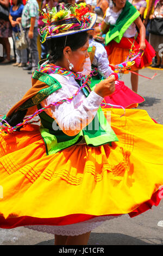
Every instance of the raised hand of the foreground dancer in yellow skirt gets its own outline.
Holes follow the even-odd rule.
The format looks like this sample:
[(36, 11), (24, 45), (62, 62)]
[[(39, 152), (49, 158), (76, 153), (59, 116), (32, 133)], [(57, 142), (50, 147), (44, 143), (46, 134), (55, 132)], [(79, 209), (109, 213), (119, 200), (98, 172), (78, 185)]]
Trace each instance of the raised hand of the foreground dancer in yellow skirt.
[(109, 96), (115, 91), (115, 76), (106, 78), (97, 84), (94, 92), (101, 97)]

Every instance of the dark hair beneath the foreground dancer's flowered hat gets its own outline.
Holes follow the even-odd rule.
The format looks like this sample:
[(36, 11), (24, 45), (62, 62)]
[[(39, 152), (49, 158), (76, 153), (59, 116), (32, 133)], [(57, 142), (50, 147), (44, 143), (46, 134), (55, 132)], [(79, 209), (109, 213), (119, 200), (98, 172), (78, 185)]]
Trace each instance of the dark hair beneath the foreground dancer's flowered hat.
[(52, 38), (47, 40), (49, 63), (54, 64), (63, 58), (63, 50), (65, 46), (70, 46), (72, 51), (76, 51), (78, 48), (85, 45), (88, 38), (89, 34), (87, 32), (80, 32), (67, 35), (67, 38), (66, 36), (60, 36), (59, 38)]

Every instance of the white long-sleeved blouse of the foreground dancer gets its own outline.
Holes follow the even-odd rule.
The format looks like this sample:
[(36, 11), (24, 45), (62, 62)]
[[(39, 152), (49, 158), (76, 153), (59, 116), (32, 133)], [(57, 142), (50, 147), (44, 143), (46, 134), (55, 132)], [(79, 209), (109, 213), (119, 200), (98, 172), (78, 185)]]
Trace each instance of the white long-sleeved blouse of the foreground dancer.
[[(80, 88), (73, 77), (59, 74), (50, 75), (58, 80), (62, 88), (43, 100), (41, 102), (42, 107), (70, 98)], [(71, 102), (66, 101), (58, 106), (48, 108), (46, 112), (57, 121), (57, 124), (66, 135), (75, 136), (91, 123), (102, 101), (103, 97), (93, 91), (87, 97), (80, 91)]]

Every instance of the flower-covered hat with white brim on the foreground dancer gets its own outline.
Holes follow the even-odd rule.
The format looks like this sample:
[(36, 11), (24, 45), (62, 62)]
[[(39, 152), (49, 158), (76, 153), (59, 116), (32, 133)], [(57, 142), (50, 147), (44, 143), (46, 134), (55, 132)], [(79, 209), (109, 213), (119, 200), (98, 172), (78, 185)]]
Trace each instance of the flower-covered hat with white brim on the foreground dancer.
[(56, 7), (51, 10), (46, 6), (47, 9), (41, 10), (45, 26), (38, 29), (42, 43), (54, 37), (92, 30), (97, 19), (97, 15), (92, 14), (85, 3), (69, 8), (61, 4), (60, 11)]

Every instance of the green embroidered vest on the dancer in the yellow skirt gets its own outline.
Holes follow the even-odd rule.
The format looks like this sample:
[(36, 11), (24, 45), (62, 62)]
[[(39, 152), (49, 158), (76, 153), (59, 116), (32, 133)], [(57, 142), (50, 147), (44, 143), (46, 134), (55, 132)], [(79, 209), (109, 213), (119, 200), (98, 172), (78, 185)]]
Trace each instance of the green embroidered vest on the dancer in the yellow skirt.
[[(34, 72), (33, 78), (45, 82), (49, 85), (49, 88), (46, 88), (49, 90), (44, 89), (43, 92), (40, 90), (40, 92), (36, 94), (37, 96), (35, 95), (35, 100), (32, 98), (30, 99), (30, 102), (26, 102), (26, 106), (27, 103), (35, 102), (37, 108), (40, 109), (41, 101), (46, 99), (46, 97), (54, 93), (56, 90), (60, 89), (61, 84), (52, 76), (39, 71)], [(82, 90), (82, 92), (86, 97), (89, 95), (87, 90)], [(82, 142), (83, 138), (85, 139), (85, 143), (90, 147), (99, 147), (100, 145), (108, 143), (111, 145), (111, 142), (118, 141), (118, 138), (114, 131), (111, 129), (111, 126), (108, 124), (108, 121), (106, 120), (101, 107), (99, 107), (98, 112), (91, 123), (87, 125), (82, 131), (79, 131), (76, 136), (67, 136), (60, 129), (57, 122), (48, 114), (46, 114), (45, 111), (41, 112), (39, 116), (41, 119), (40, 132), (46, 145), (47, 155), (57, 153), (62, 149), (76, 145)]]

